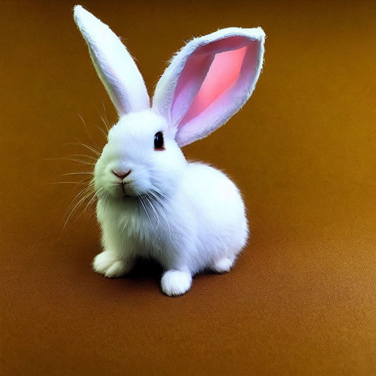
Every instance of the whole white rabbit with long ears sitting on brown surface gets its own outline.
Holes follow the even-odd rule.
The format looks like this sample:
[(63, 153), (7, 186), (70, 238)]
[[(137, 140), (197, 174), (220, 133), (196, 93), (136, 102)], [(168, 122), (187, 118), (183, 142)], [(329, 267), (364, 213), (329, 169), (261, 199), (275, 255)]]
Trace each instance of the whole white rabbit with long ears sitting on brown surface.
[(248, 100), (261, 71), (263, 30), (229, 27), (188, 42), (150, 107), (118, 37), (80, 5), (74, 20), (119, 114), (94, 167), (103, 244), (94, 270), (119, 277), (136, 258), (153, 258), (164, 268), (167, 295), (187, 292), (200, 271), (228, 272), (247, 240), (244, 203), (223, 172), (188, 162), (180, 148), (208, 136)]

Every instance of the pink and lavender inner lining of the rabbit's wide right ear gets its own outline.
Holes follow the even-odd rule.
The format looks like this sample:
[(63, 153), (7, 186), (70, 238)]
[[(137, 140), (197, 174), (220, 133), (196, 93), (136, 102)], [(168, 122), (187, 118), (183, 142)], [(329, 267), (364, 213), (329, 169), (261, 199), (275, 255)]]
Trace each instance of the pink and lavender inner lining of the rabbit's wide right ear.
[[(237, 107), (233, 102), (239, 96), (248, 98), (258, 64), (258, 46), (258, 40), (235, 35), (198, 47), (188, 57), (178, 79), (171, 106), (172, 123), (182, 128), (206, 113), (208, 107), (216, 116)], [(215, 105), (219, 97), (224, 99), (221, 108)]]

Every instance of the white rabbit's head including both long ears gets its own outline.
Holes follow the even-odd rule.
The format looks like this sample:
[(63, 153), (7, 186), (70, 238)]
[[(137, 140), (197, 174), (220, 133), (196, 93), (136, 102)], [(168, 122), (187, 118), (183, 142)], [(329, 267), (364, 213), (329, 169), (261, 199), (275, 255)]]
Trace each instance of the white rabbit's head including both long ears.
[(263, 30), (229, 27), (188, 42), (164, 71), (150, 106), (141, 73), (116, 34), (80, 5), (74, 19), (119, 115), (95, 165), (97, 193), (171, 192), (187, 166), (180, 148), (224, 124), (255, 89)]

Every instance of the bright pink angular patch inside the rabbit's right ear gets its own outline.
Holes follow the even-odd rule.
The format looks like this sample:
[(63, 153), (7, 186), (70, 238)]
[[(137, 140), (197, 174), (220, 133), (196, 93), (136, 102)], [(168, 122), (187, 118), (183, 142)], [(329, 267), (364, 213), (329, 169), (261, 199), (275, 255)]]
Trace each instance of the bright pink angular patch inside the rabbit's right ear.
[(208, 74), (196, 94), (181, 124), (201, 114), (219, 95), (224, 93), (240, 75), (247, 46), (215, 54)]

